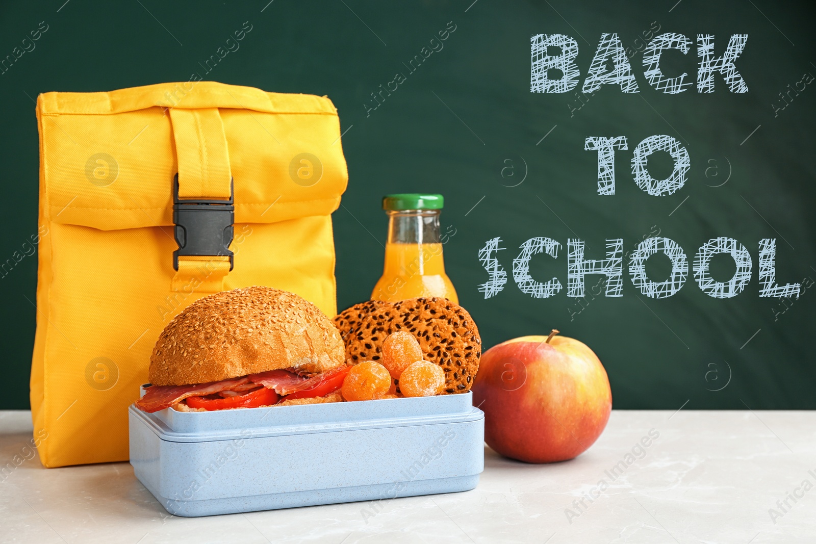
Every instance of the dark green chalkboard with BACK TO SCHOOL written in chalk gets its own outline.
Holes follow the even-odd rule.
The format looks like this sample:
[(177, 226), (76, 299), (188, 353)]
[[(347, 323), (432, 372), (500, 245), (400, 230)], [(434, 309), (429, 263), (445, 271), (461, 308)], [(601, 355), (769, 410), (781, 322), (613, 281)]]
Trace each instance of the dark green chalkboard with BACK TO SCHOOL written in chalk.
[[(252, 30), (240, 49), (206, 73), (199, 63), (245, 21)], [(386, 229), (380, 197), (441, 192), (443, 228), (455, 232), (445, 245), (448, 273), (487, 346), (561, 329), (601, 358), (616, 408), (814, 408), (816, 294), (805, 288), (798, 299), (759, 296), (765, 238), (776, 239), (780, 284), (816, 280), (812, 22), (809, 2), (6, 3), (0, 57), (16, 47), (29, 51), (3, 64), (0, 75), (0, 260), (22, 255), (0, 278), (7, 378), (0, 409), (28, 406), (37, 314), (37, 256), (24, 246), (37, 232), (33, 101), (44, 91), (109, 91), (187, 81), (194, 72), (266, 91), (328, 95), (339, 108), (349, 170), (334, 215), (339, 307), (366, 299), (379, 277)], [(24, 43), (32, 31), (38, 40)], [(563, 94), (530, 91), (532, 37), (574, 38), (583, 82), (604, 33), (618, 35), (640, 92), (615, 85), (594, 94), (579, 94), (580, 85)], [(690, 82), (698, 34), (714, 36), (715, 55), (732, 35), (747, 34), (735, 65), (748, 91), (731, 92), (720, 75), (712, 93), (694, 85), (676, 95), (655, 90), (642, 60), (645, 43), (659, 33), (690, 38), (688, 54), (667, 51), (660, 63), (667, 74), (687, 72)], [(384, 88), (392, 91), (380, 94)], [(689, 154), (685, 185), (671, 195), (651, 196), (633, 181), (633, 150), (651, 135), (671, 136)], [(598, 153), (584, 150), (592, 136), (628, 140), (628, 150), (615, 154), (614, 195), (598, 194)], [(672, 167), (664, 152), (647, 161), (656, 179)], [(568, 239), (584, 242), (586, 259), (602, 259), (606, 239), (623, 239), (630, 255), (655, 236), (676, 241), (688, 257), (676, 294), (642, 294), (626, 259), (622, 296), (593, 295), (601, 276), (587, 277), (583, 299), (567, 296)], [(508, 281), (486, 299), (479, 251), (496, 237)], [(556, 276), (564, 285), (546, 299), (523, 293), (513, 278), (519, 246), (533, 237), (561, 244), (557, 259), (530, 260), (534, 280)], [(750, 282), (730, 299), (704, 293), (691, 271), (698, 248), (716, 237), (739, 241), (751, 256)], [(663, 281), (671, 269), (656, 255), (645, 271)], [(724, 255), (711, 261), (716, 281), (735, 270)]]

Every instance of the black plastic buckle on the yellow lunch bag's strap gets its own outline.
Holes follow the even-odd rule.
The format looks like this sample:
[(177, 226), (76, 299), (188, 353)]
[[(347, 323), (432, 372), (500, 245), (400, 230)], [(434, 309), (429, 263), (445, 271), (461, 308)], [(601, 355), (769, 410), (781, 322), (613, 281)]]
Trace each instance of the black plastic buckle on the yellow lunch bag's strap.
[(179, 256), (229, 257), (233, 270), (233, 223), (235, 223), (235, 192), (229, 179), (229, 200), (180, 200), (179, 175), (173, 179), (173, 223), (175, 242), (173, 268), (179, 269)]

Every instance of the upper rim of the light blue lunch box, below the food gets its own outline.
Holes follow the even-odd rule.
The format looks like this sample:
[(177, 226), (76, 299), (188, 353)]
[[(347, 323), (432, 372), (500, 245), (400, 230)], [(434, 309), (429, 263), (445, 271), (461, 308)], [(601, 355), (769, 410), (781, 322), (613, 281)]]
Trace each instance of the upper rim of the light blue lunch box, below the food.
[(484, 418), (472, 405), (472, 393), (316, 405), (268, 406), (211, 412), (166, 408), (148, 414), (131, 405), (130, 413), (162, 440), (211, 442), (265, 436), (411, 427)]

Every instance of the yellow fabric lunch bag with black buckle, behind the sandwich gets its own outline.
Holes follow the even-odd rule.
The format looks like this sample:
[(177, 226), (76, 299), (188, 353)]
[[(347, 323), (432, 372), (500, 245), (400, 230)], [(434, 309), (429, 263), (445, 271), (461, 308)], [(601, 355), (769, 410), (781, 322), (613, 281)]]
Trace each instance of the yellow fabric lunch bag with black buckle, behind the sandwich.
[(248, 285), (336, 313), (348, 171), (326, 97), (217, 82), (39, 95), (31, 411), (46, 467), (126, 461), (127, 407), (184, 307)]

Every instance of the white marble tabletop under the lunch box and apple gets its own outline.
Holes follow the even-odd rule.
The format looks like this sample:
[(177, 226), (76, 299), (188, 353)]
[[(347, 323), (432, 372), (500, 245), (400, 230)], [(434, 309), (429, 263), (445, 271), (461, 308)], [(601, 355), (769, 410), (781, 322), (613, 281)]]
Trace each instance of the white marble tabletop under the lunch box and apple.
[(816, 412), (614, 411), (573, 461), (486, 448), (467, 493), (209, 518), (167, 515), (127, 463), (8, 469), (30, 438), (0, 412), (0, 542), (816, 542)]

